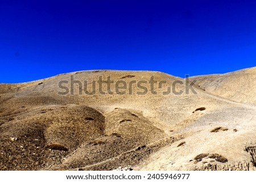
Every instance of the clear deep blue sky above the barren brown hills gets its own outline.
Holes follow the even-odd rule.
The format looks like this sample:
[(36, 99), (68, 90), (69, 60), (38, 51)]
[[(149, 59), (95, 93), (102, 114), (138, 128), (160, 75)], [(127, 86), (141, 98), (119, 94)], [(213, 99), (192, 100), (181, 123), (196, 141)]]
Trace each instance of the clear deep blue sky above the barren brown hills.
[(92, 69), (256, 66), (256, 1), (0, 0), (0, 83)]

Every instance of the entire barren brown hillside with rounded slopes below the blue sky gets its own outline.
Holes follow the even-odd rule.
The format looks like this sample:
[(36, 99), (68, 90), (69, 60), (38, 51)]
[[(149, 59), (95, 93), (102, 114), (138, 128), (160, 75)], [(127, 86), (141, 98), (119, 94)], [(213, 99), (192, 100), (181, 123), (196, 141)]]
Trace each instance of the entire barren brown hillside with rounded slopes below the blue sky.
[(254, 170), (255, 73), (94, 70), (0, 84), (0, 169)]

